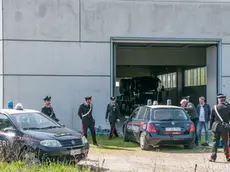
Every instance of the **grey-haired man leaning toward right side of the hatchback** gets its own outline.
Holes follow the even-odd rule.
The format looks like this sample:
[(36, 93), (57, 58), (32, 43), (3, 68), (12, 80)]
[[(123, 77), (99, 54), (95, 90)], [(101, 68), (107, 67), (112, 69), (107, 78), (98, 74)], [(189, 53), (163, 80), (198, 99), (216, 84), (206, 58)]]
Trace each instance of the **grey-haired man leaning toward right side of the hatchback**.
[(198, 145), (198, 138), (197, 138), (196, 131), (197, 131), (197, 123), (199, 121), (199, 118), (198, 118), (198, 114), (197, 114), (197, 109), (193, 103), (189, 102), (189, 100), (186, 100), (186, 99), (182, 99), (180, 104), (181, 104), (181, 107), (183, 107), (188, 112), (191, 121), (194, 123), (195, 144)]

